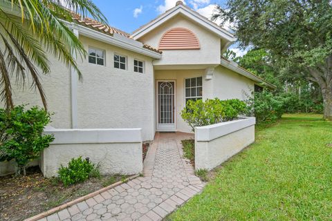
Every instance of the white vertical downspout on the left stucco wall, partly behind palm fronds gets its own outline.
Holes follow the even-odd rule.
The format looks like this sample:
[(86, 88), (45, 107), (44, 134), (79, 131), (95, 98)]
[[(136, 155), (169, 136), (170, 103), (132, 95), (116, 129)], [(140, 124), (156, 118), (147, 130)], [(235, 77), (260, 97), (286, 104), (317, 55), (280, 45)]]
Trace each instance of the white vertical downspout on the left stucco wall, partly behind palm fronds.
[[(74, 35), (79, 37), (78, 30), (76, 28), (71, 29)], [(76, 52), (71, 50), (71, 56), (76, 61)], [(71, 71), (71, 128), (77, 128), (77, 70), (73, 66)]]

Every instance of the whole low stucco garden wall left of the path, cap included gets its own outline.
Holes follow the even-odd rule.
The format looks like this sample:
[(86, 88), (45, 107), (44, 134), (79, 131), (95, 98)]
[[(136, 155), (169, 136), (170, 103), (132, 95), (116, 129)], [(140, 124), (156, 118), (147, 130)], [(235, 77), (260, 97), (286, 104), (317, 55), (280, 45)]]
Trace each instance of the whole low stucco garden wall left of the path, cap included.
[(56, 129), (46, 128), (55, 140), (44, 149), (40, 168), (46, 177), (56, 176), (61, 165), (73, 157), (89, 157), (100, 164), (102, 174), (142, 172), (142, 129)]

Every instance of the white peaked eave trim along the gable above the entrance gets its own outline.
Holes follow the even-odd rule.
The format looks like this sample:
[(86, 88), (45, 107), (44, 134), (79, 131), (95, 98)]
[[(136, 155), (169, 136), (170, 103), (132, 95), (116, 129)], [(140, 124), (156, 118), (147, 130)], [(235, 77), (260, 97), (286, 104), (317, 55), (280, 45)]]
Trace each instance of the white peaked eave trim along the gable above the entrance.
[[(163, 23), (165, 21), (168, 21), (175, 15), (182, 14), (186, 17), (189, 17), (190, 19), (193, 19), (197, 23), (201, 24), (201, 26), (204, 26), (205, 28), (208, 28), (212, 32), (214, 32), (216, 35), (219, 35), (219, 37), (222, 37), (223, 39), (226, 39), (227, 41), (237, 41), (237, 38), (234, 37), (230, 32), (227, 30), (224, 30), (223, 28), (216, 25), (216, 23), (213, 23), (212, 21), (209, 21), (207, 18), (203, 17), (202, 15), (199, 15), (199, 13), (192, 12), (192, 10), (188, 9), (187, 7), (183, 5), (178, 5), (167, 12), (165, 12), (164, 15), (158, 17), (155, 21), (152, 21), (151, 23), (148, 23), (143, 28), (140, 28), (138, 30), (135, 30), (131, 37), (133, 39), (139, 39), (143, 35), (146, 35), (147, 32), (153, 30), (154, 28), (160, 26), (160, 23)], [(164, 21), (165, 20), (165, 21)]]

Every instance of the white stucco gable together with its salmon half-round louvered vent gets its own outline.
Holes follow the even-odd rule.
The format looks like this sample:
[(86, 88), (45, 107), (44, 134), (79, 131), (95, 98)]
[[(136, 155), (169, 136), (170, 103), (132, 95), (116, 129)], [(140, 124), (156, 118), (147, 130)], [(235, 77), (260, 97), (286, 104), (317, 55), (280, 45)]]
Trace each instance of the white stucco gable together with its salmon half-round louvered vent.
[(138, 41), (163, 52), (163, 57), (154, 65), (220, 64), (220, 37), (181, 15), (169, 19)]

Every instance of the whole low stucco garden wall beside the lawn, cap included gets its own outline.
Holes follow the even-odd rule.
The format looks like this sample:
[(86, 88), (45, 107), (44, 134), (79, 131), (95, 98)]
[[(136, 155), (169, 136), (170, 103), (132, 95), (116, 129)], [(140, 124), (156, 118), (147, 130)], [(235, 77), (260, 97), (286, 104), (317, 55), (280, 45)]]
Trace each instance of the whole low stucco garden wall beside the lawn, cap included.
[(255, 117), (195, 128), (195, 169), (214, 169), (255, 141)]

